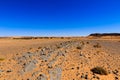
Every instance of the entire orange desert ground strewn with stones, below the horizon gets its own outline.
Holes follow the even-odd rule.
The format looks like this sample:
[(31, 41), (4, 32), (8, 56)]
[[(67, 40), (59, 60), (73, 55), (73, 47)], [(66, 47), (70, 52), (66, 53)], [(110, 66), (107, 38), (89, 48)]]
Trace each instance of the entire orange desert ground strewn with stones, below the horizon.
[(0, 80), (120, 80), (120, 39), (0, 39)]

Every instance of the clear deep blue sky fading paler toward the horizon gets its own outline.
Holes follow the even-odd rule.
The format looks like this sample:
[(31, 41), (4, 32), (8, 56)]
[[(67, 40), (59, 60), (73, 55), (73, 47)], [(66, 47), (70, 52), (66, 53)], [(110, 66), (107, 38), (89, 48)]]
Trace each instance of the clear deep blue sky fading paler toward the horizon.
[(0, 0), (0, 36), (120, 32), (120, 0)]

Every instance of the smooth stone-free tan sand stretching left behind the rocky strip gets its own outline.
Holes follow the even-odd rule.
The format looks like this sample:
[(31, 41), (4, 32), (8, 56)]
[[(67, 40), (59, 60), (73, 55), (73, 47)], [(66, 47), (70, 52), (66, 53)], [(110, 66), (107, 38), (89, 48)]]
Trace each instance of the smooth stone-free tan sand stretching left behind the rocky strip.
[(33, 39), (33, 40), (13, 40), (0, 39), (0, 55), (14, 55), (29, 51), (36, 51), (39, 47), (48, 46), (55, 43), (67, 41), (68, 39)]

